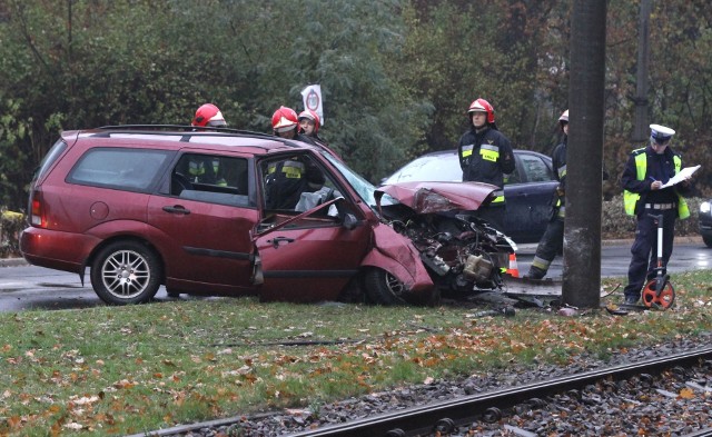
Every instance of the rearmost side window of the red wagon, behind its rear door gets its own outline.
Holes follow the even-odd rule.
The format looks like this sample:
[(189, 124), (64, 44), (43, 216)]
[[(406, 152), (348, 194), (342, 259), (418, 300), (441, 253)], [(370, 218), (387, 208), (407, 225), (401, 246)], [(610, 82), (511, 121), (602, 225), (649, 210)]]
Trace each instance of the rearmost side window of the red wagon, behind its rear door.
[(129, 191), (148, 191), (160, 177), (170, 152), (147, 149), (95, 148), (75, 165), (67, 181)]

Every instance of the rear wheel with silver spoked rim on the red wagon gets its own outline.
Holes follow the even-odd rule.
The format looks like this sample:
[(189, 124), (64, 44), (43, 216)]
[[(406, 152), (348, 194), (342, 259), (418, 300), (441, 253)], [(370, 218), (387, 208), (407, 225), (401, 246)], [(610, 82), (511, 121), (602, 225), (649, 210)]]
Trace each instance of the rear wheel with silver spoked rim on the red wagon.
[(137, 241), (117, 241), (101, 249), (91, 265), (91, 286), (107, 304), (150, 301), (160, 287), (156, 254)]

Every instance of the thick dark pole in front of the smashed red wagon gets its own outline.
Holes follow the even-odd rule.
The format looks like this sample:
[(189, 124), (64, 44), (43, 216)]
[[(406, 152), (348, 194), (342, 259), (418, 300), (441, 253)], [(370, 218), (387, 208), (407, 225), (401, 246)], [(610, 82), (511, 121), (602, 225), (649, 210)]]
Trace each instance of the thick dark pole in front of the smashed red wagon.
[(605, 14), (605, 1), (573, 2), (562, 299), (580, 308), (601, 302)]

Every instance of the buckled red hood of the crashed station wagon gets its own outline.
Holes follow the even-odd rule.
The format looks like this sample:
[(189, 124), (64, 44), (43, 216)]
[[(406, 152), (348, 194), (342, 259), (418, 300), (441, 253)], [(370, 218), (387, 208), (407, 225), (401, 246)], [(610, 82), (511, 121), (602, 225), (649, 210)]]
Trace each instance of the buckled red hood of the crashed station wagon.
[(482, 182), (400, 182), (379, 187), (374, 197), (378, 208), (386, 193), (417, 213), (475, 211), (492, 201), (497, 189)]

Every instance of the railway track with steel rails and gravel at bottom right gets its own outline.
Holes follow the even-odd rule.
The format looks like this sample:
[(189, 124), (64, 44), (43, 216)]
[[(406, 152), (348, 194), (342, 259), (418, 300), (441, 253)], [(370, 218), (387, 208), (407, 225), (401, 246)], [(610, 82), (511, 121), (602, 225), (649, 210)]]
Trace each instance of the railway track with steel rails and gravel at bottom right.
[[(693, 369), (693, 370), (691, 370)], [(688, 426), (679, 426), (675, 433), (666, 435), (674, 436), (712, 436), (712, 347), (700, 348), (691, 351), (680, 352), (666, 357), (647, 359), (644, 361), (619, 365), (599, 370), (581, 373), (555, 379), (542, 380), (533, 384), (511, 387), (497, 391), (483, 393), (472, 396), (459, 397), (453, 400), (432, 403), (419, 407), (407, 408), (394, 413), (375, 415), (367, 418), (352, 420), (339, 425), (328, 425), (317, 429), (301, 430), (289, 434), (289, 431), (277, 435), (290, 437), (355, 437), (355, 436), (384, 436), (384, 437), (409, 437), (409, 436), (474, 436), (474, 435), (500, 435), (500, 436), (522, 436), (535, 437), (536, 434), (525, 430), (523, 427), (506, 425), (506, 417), (526, 416), (524, 411), (544, 409), (547, 404), (556, 404), (555, 414), (573, 414), (578, 407), (573, 405), (590, 404), (595, 407), (596, 397), (603, 396), (601, 393), (615, 393), (629, 380), (635, 380), (637, 390), (653, 390), (661, 397), (679, 398), (675, 389), (671, 389), (671, 384), (675, 387), (684, 386), (691, 393), (698, 391), (702, 397), (702, 404), (695, 406), (700, 410), (702, 419), (690, 419)], [(599, 395), (590, 394), (591, 388), (596, 387)], [(643, 398), (649, 395), (643, 396)], [(632, 397), (629, 396), (629, 397)], [(562, 405), (568, 401), (572, 406)], [(679, 399), (675, 399), (680, 401)], [(635, 403), (636, 400), (631, 399)], [(680, 407), (674, 407), (680, 410)], [(699, 411), (699, 413), (700, 413)], [(627, 411), (630, 413), (630, 411)], [(613, 414), (613, 413), (609, 413)], [(625, 415), (626, 411), (619, 414)], [(660, 413), (659, 421), (665, 421), (665, 414)], [(534, 415), (536, 416), (536, 415)], [(222, 427), (236, 431), (235, 436), (264, 436), (263, 434), (250, 434), (249, 430), (240, 428), (239, 424), (244, 417), (214, 420), (211, 423), (191, 424), (181, 427), (164, 429), (155, 433), (141, 434), (140, 436), (209, 436), (215, 434), (206, 433), (210, 427)], [(654, 418), (653, 418), (654, 419)], [(695, 423), (698, 420), (698, 423)], [(706, 420), (706, 421), (705, 421)], [(546, 420), (541, 420), (546, 421)], [(673, 423), (673, 419), (670, 419)], [(477, 424), (491, 424), (490, 428)], [(494, 424), (494, 425), (493, 425)], [(502, 434), (487, 434), (485, 429), (501, 428)], [(243, 430), (244, 434), (239, 434)], [(198, 434), (196, 434), (198, 433)], [(224, 434), (225, 435), (225, 434)], [(233, 434), (228, 434), (233, 435)], [(547, 434), (548, 435), (548, 434)], [(571, 435), (581, 435), (574, 431)], [(621, 430), (619, 434), (592, 434), (592, 435), (629, 435)], [(643, 435), (665, 435), (665, 434), (643, 434)], [(136, 436), (138, 437), (138, 435)]]

